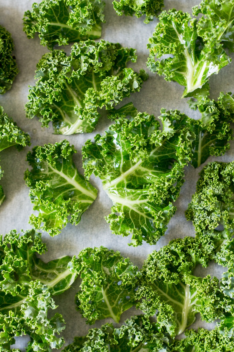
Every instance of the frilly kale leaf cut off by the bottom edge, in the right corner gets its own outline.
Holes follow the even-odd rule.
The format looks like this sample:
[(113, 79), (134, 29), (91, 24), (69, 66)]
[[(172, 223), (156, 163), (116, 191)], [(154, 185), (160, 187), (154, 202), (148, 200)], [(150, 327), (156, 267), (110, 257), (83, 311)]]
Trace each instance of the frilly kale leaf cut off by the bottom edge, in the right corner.
[(220, 335), (218, 329), (205, 330), (199, 328), (198, 332), (191, 329), (185, 332), (186, 338), (175, 340), (170, 352), (232, 352), (234, 341), (227, 336)]

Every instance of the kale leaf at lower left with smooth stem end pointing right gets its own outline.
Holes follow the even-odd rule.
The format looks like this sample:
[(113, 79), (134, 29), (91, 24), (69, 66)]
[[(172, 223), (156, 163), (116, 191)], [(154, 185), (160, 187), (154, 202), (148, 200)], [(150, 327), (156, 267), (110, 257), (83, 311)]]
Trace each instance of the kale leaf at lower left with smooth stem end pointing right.
[[(17, 302), (27, 296), (28, 285), (32, 280), (47, 285), (53, 296), (66, 291), (76, 278), (68, 269), (71, 257), (65, 256), (45, 263), (36, 256), (46, 251), (41, 235), (32, 229), (19, 236), (16, 230), (12, 230), (0, 242), (1, 293)], [(2, 301), (1, 311), (3, 309), (8, 309), (8, 306)]]

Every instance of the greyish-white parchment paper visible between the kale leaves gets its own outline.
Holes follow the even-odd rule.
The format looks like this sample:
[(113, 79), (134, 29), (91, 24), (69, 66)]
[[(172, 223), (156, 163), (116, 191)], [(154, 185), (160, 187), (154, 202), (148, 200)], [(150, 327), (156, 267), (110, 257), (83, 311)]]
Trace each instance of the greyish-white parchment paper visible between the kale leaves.
[[(15, 44), (15, 56), (20, 73), (16, 76), (12, 89), (6, 94), (0, 96), (0, 105), (4, 107), (5, 112), (17, 122), (23, 131), (28, 132), (31, 136), (32, 146), (24, 148), (18, 152), (14, 147), (1, 152), (0, 165), (4, 170), (4, 177), (1, 184), (4, 188), (6, 200), (0, 208), (0, 233), (6, 234), (16, 228), (26, 230), (30, 228), (28, 224), (29, 216), (32, 214), (32, 204), (28, 197), (29, 188), (25, 185), (24, 172), (28, 168), (26, 154), (34, 145), (44, 143), (55, 143), (62, 139), (68, 139), (78, 150), (74, 156), (74, 162), (79, 172), (83, 174), (81, 160), (81, 146), (89, 138), (93, 138), (96, 133), (102, 134), (110, 120), (102, 118), (98, 122), (93, 133), (74, 134), (72, 136), (54, 135), (52, 126), (41, 128), (40, 122), (34, 118), (28, 120), (25, 117), (24, 106), (27, 102), (28, 85), (34, 84), (34, 72), (36, 63), (41, 56), (48, 51), (47, 48), (40, 45), (39, 38), (27, 39), (26, 34), (22, 31), (22, 17), (26, 10), (31, 9), (34, 1), (32, 0), (0, 0), (0, 24), (12, 33)], [(110, 42), (119, 42), (122, 46), (129, 46), (137, 49), (138, 61), (131, 64), (136, 71), (140, 68), (146, 69), (149, 73), (149, 79), (143, 84), (139, 93), (132, 95), (130, 99), (125, 99), (123, 104), (133, 101), (138, 111), (148, 112), (155, 116), (160, 115), (160, 109), (179, 109), (189, 117), (199, 118), (199, 113), (189, 109), (187, 99), (180, 99), (183, 93), (183, 87), (176, 82), (166, 82), (163, 77), (150, 73), (146, 68), (148, 57), (147, 43), (148, 38), (152, 35), (157, 23), (155, 19), (150, 24), (143, 23), (142, 18), (119, 17), (113, 10), (111, 1), (106, 1), (105, 19), (103, 24), (101, 39)], [(165, 0), (165, 8), (176, 8), (191, 12), (194, 5), (199, 4), (199, 0)], [(66, 47), (69, 51), (69, 47)], [(217, 98), (220, 91), (234, 92), (234, 64), (223, 68), (218, 75), (210, 78), (210, 94), (212, 98)], [(231, 142), (230, 150), (223, 157), (209, 158), (207, 162), (217, 160), (230, 162), (234, 159), (234, 143)], [(44, 233), (42, 238), (46, 242), (48, 252), (43, 256), (45, 261), (49, 261), (64, 255), (77, 255), (85, 247), (106, 246), (109, 249), (119, 250), (123, 256), (128, 256), (136, 265), (141, 266), (146, 259), (147, 254), (155, 249), (159, 249), (173, 238), (194, 235), (192, 222), (185, 218), (185, 210), (190, 202), (192, 194), (195, 192), (196, 181), (199, 178), (199, 172), (202, 167), (194, 170), (192, 166), (185, 169), (185, 184), (181, 189), (179, 199), (175, 202), (178, 210), (168, 225), (168, 230), (155, 246), (143, 243), (137, 248), (128, 246), (130, 238), (122, 238), (111, 233), (109, 225), (104, 220), (112, 206), (111, 200), (102, 190), (101, 182), (98, 178), (91, 176), (91, 183), (98, 188), (99, 193), (93, 205), (82, 215), (78, 226), (68, 224), (58, 236), (52, 238)], [(220, 277), (222, 268), (218, 265), (211, 264), (209, 268), (199, 268), (199, 275), (205, 276), (208, 273)], [(79, 281), (77, 280), (73, 287), (61, 296), (55, 297), (55, 302), (59, 304), (56, 310), (61, 313), (66, 321), (66, 329), (63, 333), (66, 344), (71, 343), (75, 335), (85, 335), (89, 326), (81, 318), (80, 313), (75, 310), (74, 296), (78, 290)], [(54, 311), (52, 312), (54, 314)], [(131, 309), (121, 317), (121, 323), (135, 313)], [(101, 326), (104, 322), (98, 321), (94, 327)], [(193, 325), (194, 327), (202, 326), (212, 328), (213, 325), (201, 322), (199, 319)], [(14, 347), (25, 346), (26, 339), (18, 338)]]

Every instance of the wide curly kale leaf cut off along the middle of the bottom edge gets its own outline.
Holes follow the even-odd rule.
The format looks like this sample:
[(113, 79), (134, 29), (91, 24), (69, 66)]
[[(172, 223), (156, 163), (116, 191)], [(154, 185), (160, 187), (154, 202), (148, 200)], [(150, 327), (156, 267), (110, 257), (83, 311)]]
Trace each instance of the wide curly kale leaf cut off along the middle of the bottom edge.
[(166, 352), (170, 339), (159, 332), (155, 323), (142, 316), (132, 316), (120, 328), (106, 323), (101, 328), (90, 329), (87, 336), (76, 337), (64, 348), (65, 352)]

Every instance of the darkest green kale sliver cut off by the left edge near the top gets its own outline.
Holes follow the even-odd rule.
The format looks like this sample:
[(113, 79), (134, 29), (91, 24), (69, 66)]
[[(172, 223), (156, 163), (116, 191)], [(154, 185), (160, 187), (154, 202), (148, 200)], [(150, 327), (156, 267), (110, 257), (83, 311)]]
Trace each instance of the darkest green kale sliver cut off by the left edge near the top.
[(13, 50), (11, 34), (0, 26), (0, 94), (11, 89), (15, 76), (18, 74), (15, 57), (12, 55)]

